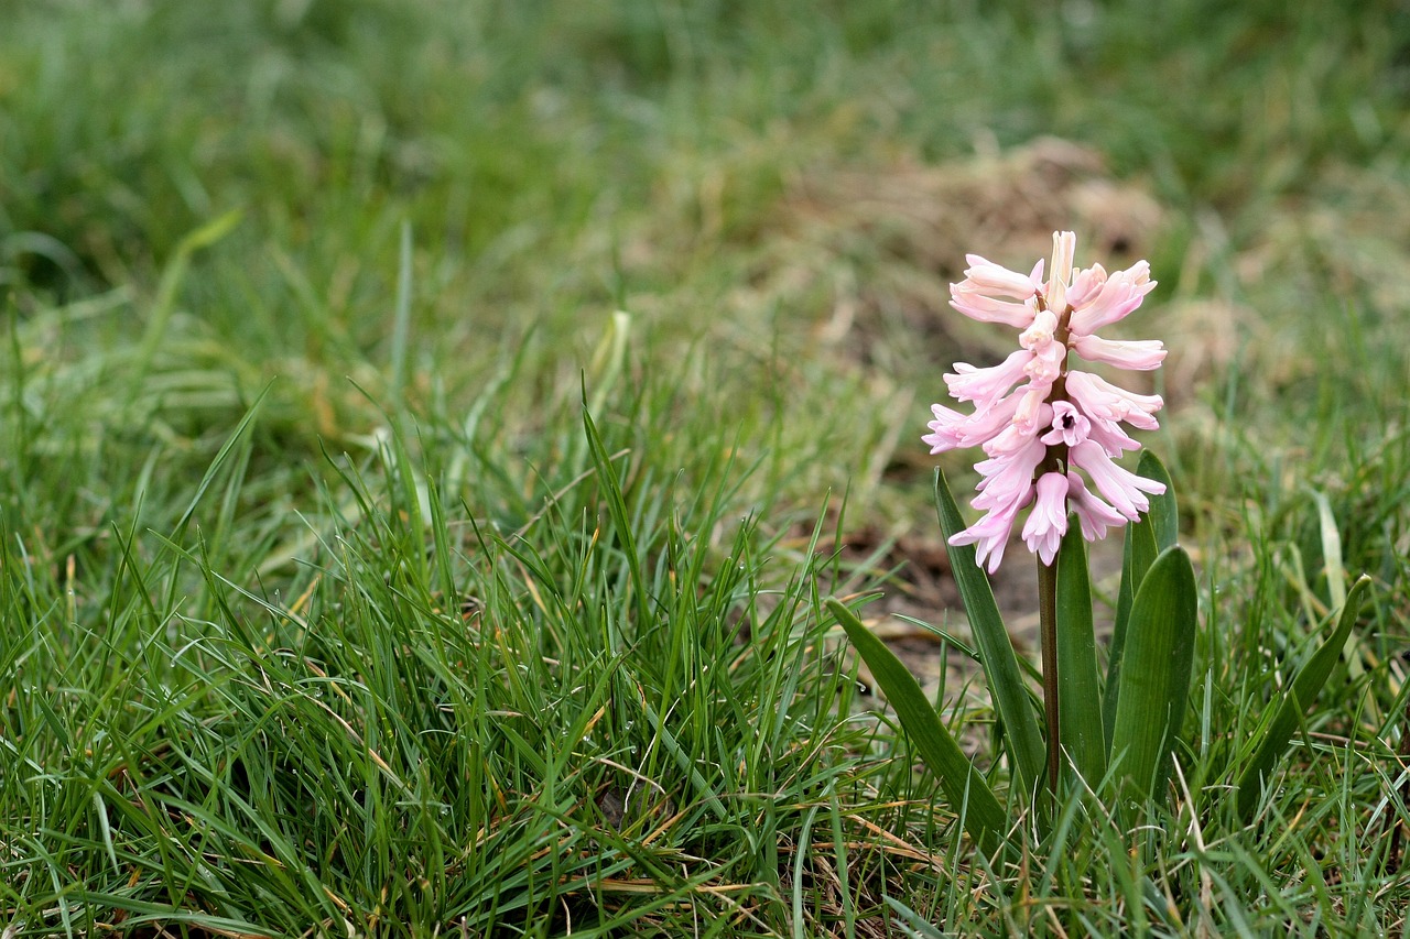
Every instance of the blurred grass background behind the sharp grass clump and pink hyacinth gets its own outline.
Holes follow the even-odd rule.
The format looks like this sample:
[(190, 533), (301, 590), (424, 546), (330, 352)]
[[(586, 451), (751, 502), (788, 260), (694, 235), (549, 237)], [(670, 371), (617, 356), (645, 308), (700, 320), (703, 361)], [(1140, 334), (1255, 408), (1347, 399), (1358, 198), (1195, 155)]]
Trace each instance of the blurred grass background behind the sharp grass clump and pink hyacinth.
[[(398, 488), (417, 474), (467, 543), (547, 513), (568, 541), (539, 550), (571, 574), (605, 509), (546, 506), (606, 465), (584, 396), (663, 551), (684, 501), (721, 557), (749, 515), (752, 550), (801, 558), (829, 491), (838, 544), (933, 543), (926, 405), (1005, 341), (956, 323), (945, 285), (966, 251), (1019, 266), (1076, 227), (1079, 264), (1145, 257), (1160, 281), (1129, 334), (1173, 350), (1151, 443), (1211, 596), (1263, 584), (1316, 619), (1316, 489), (1389, 598), (1382, 716), (1399, 701), (1404, 4), (0, 0), (0, 21), (4, 532), (42, 571), (11, 610), (16, 675), (37, 642), (72, 653), (65, 623), (138, 616), (133, 557), (171, 564), (169, 616), (214, 618), (213, 574), (290, 603), (330, 532), (399, 505), (368, 547), (395, 579), (422, 551), (396, 534), (430, 510)], [(422, 574), (443, 605), (468, 577)]]

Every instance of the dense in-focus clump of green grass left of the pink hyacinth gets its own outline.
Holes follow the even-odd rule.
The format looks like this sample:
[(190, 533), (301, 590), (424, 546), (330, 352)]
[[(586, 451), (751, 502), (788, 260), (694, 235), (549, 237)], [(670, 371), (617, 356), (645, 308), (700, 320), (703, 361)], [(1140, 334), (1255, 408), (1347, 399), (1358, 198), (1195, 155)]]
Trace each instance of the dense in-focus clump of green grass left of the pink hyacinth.
[(682, 489), (634, 446), (664, 413), (636, 417), (584, 412), (577, 458), (517, 502), (447, 492), (458, 454), (413, 458), (393, 420), (368, 458), (329, 458), (316, 544), (272, 582), (266, 540), (227, 547), (252, 422), (173, 530), (116, 530), (82, 570), (35, 558), (16, 519), (13, 921), (547, 935), (828, 915), (798, 892), (811, 832), (870, 809), (822, 556), (774, 557), (737, 515), (729, 437), (692, 424), (721, 457)]

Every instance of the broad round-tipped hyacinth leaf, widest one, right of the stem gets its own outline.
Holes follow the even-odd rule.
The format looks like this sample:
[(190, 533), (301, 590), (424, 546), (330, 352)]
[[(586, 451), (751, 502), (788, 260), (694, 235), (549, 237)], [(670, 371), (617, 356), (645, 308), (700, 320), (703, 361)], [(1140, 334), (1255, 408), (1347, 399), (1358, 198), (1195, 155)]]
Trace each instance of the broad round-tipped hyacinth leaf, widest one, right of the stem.
[(1144, 805), (1165, 784), (1190, 692), (1197, 609), (1190, 556), (1166, 548), (1141, 581), (1127, 623), (1111, 736), (1122, 801)]

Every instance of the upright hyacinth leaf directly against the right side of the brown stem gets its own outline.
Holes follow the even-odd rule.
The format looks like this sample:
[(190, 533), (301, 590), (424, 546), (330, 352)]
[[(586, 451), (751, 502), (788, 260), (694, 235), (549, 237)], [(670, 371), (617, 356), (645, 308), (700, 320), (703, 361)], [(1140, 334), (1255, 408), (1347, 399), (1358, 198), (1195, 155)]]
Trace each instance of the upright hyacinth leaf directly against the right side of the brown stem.
[(1093, 787), (1107, 774), (1100, 681), (1087, 546), (1081, 526), (1072, 517), (1058, 553), (1058, 722), (1067, 759)]

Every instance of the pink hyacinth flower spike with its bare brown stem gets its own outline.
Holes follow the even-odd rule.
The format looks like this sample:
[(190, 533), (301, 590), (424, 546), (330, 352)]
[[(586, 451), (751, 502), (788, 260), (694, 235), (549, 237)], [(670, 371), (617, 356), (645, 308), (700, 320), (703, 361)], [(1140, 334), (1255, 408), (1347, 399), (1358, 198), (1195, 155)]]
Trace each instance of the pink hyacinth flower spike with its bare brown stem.
[[(955, 365), (945, 375), (950, 396), (970, 402), (963, 413), (932, 406), (935, 420), (924, 437), (931, 453), (980, 447), (986, 457), (979, 493), (970, 505), (983, 512), (950, 544), (974, 546), (974, 558), (993, 574), (1004, 560), (1014, 524), (1026, 509), (1021, 536), (1038, 557), (1042, 620), (1043, 704), (1048, 722), (1048, 782), (1058, 785), (1058, 626), (1055, 558), (1074, 513), (1081, 534), (1094, 541), (1149, 509), (1148, 495), (1165, 485), (1117, 465), (1139, 444), (1122, 424), (1155, 430), (1158, 395), (1138, 395), (1074, 368), (1072, 357), (1124, 369), (1149, 371), (1165, 360), (1158, 340), (1118, 341), (1097, 330), (1129, 316), (1155, 288), (1141, 261), (1108, 274), (1100, 264), (1073, 266), (1077, 237), (1053, 233), (1053, 255), (1028, 275), (979, 255), (967, 255), (964, 279), (950, 285), (950, 306), (974, 320), (1018, 330), (1018, 351), (998, 365)], [(1090, 481), (1090, 486), (1089, 486)]]

